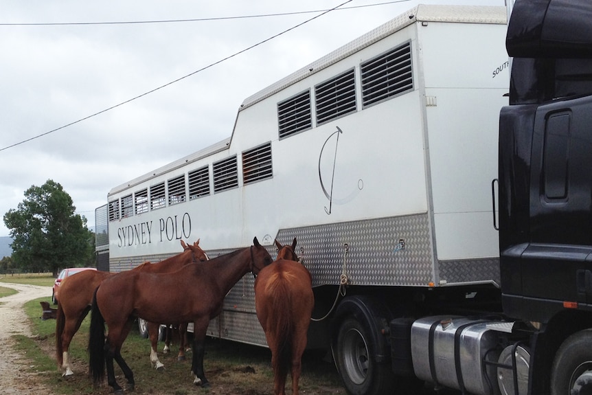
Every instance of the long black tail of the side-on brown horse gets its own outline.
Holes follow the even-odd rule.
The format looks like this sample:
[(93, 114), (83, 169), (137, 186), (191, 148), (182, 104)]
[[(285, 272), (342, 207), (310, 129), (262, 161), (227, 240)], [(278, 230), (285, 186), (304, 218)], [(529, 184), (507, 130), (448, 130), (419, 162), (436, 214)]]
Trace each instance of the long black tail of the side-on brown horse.
[(91, 308), (91, 328), (89, 330), (89, 376), (98, 385), (105, 376), (105, 319), (97, 304), (97, 289), (93, 295)]

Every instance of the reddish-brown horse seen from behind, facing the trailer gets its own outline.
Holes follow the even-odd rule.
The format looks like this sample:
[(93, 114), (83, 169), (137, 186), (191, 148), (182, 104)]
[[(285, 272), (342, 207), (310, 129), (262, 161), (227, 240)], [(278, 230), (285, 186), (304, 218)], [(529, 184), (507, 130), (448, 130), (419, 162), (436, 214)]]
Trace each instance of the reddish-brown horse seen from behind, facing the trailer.
[[(291, 246), (280, 245), (277, 259), (255, 279), (255, 310), (271, 349), (273, 394), (286, 394), (286, 376), (292, 376), (292, 394), (298, 395), (301, 359), (315, 296), (312, 277)], [(283, 258), (282, 258), (283, 257)]]

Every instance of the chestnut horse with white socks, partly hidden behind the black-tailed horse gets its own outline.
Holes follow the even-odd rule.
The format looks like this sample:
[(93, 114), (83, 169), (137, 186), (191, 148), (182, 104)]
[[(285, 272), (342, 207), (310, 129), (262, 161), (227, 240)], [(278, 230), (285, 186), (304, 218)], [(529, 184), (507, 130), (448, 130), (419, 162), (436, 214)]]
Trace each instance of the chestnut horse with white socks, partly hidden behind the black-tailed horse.
[[(185, 264), (207, 259), (205, 252), (199, 247), (199, 240), (194, 242), (193, 245), (186, 245), (181, 240), (181, 245), (183, 246), (182, 253), (155, 264), (145, 262), (134, 270), (148, 272), (176, 271)], [(60, 284), (60, 300), (58, 300), (58, 310), (56, 312), (56, 359), (62, 371), (62, 376), (73, 374), (68, 355), (70, 342), (91, 310), (95, 289), (103, 280), (114, 274), (107, 271), (85, 270), (65, 278)], [(158, 326), (159, 324), (148, 324), (150, 342), (152, 343), (150, 361), (157, 368), (161, 368), (163, 364), (158, 360), (156, 352)]]

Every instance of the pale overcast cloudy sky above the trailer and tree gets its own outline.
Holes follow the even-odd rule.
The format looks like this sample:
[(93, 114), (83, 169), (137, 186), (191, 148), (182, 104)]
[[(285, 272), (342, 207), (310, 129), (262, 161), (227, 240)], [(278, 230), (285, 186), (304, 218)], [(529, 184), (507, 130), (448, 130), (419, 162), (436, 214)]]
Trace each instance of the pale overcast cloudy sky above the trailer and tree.
[[(229, 137), (249, 95), (418, 3), (505, 5), (0, 0), (0, 215), (53, 179), (93, 227), (111, 188)], [(124, 23), (146, 21), (170, 22)]]

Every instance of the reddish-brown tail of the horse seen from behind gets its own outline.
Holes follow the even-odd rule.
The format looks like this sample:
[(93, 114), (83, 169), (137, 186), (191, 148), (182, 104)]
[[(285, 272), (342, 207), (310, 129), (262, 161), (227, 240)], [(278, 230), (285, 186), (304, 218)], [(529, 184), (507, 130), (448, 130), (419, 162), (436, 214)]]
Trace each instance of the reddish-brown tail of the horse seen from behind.
[(275, 279), (269, 284), (273, 311), (275, 311), (275, 335), (277, 344), (275, 374), (286, 376), (292, 368), (292, 346), (294, 335), (294, 320), (292, 317), (292, 294), (287, 286), (286, 273), (277, 271)]

